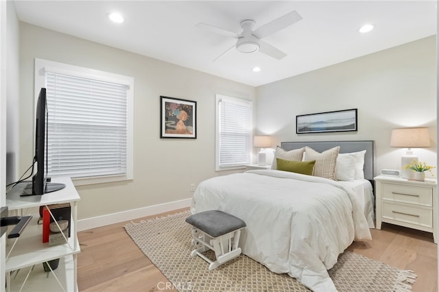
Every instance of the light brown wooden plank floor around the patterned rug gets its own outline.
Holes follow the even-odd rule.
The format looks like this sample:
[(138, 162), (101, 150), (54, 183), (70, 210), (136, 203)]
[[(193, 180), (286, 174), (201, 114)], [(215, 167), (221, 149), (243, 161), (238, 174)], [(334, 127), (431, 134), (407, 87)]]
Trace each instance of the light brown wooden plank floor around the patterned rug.
[[(123, 228), (126, 223), (78, 233), (82, 249), (78, 254), (79, 291), (175, 291), (128, 236)], [(386, 223), (371, 232), (373, 241), (355, 242), (348, 250), (415, 271), (414, 292), (438, 291), (437, 245), (432, 234)]]

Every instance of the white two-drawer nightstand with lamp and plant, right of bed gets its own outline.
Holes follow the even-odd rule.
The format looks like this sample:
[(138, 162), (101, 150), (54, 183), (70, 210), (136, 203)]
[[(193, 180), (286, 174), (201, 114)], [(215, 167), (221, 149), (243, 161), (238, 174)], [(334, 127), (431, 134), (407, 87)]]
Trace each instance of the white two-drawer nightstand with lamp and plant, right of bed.
[(437, 181), (425, 182), (378, 175), (375, 180), (377, 229), (381, 222), (433, 232), (438, 243)]

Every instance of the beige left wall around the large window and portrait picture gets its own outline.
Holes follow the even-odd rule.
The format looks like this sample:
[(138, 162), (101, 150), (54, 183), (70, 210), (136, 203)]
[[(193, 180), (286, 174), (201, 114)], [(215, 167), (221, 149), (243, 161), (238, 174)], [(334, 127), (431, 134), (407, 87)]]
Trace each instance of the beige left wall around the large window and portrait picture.
[[(254, 100), (255, 88), (42, 27), (20, 23), (20, 169), (32, 161), (34, 58), (134, 77), (134, 180), (78, 186), (78, 219), (190, 198), (215, 173), (215, 93)], [(197, 101), (197, 139), (160, 138), (160, 96)]]

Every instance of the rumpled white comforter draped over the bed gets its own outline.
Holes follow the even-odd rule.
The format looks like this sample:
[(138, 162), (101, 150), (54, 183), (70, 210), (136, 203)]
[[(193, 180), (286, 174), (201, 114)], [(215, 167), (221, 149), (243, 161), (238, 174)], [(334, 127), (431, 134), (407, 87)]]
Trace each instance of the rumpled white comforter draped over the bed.
[(327, 269), (354, 239), (372, 239), (355, 194), (310, 175), (254, 170), (205, 180), (191, 211), (212, 209), (246, 221), (244, 254), (313, 291), (336, 291)]

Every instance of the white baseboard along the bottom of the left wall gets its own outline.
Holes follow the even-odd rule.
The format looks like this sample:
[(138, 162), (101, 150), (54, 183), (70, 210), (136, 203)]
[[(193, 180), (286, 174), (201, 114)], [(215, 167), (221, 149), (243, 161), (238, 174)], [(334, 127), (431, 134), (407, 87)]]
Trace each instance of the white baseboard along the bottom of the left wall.
[(157, 215), (163, 212), (169, 212), (171, 210), (188, 208), (191, 206), (191, 202), (192, 199), (181, 199), (180, 201), (174, 201), (165, 204), (158, 204), (154, 206), (147, 206), (108, 215), (81, 219), (78, 220), (78, 232), (123, 221), (129, 221), (141, 217)]

